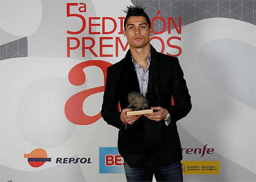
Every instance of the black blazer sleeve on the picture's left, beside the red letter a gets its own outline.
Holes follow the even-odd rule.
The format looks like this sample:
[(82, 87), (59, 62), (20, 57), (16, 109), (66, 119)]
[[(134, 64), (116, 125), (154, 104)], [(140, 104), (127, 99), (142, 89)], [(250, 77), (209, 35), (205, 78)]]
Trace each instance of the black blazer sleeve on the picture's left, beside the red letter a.
[(119, 112), (118, 108), (119, 99), (117, 93), (117, 80), (115, 77), (113, 70), (108, 67), (101, 116), (108, 124), (121, 128), (123, 122), (121, 121), (121, 112)]

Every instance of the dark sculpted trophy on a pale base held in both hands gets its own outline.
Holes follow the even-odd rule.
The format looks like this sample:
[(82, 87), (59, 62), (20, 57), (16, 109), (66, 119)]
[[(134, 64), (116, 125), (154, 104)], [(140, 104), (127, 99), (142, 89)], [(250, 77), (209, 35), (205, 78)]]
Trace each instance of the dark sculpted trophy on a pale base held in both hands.
[(127, 115), (139, 115), (153, 113), (153, 109), (148, 109), (148, 101), (146, 97), (138, 92), (131, 92), (128, 94), (128, 102), (130, 105), (127, 108), (131, 108), (133, 111), (128, 111)]

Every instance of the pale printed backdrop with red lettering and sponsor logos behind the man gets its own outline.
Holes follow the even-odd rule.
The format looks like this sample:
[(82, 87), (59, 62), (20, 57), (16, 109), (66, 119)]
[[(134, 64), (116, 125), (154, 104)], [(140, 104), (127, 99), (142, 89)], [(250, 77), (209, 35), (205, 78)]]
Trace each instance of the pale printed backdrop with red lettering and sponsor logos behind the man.
[(100, 110), (107, 68), (129, 49), (129, 5), (192, 97), (177, 123), (184, 181), (256, 180), (255, 0), (0, 0), (1, 181), (126, 180)]

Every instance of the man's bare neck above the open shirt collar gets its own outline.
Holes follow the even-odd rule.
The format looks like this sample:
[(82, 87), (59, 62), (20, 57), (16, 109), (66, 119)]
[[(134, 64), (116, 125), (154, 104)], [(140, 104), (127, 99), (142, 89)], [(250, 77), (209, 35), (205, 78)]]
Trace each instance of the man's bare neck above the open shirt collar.
[(132, 57), (138, 64), (147, 64), (147, 56), (150, 53), (150, 44), (142, 48), (130, 47)]

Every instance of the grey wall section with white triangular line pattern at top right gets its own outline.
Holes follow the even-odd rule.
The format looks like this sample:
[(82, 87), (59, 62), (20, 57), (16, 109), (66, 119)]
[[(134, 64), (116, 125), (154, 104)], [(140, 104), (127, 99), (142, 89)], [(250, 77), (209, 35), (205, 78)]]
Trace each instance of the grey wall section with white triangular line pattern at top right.
[[(166, 21), (172, 17), (177, 25), (179, 17), (182, 17), (182, 25), (207, 18), (231, 18), (255, 25), (256, 19), (255, 0), (132, 0), (132, 3), (144, 7), (150, 19), (161, 10), (159, 16)], [(154, 22), (155, 30), (162, 28), (161, 21)]]

